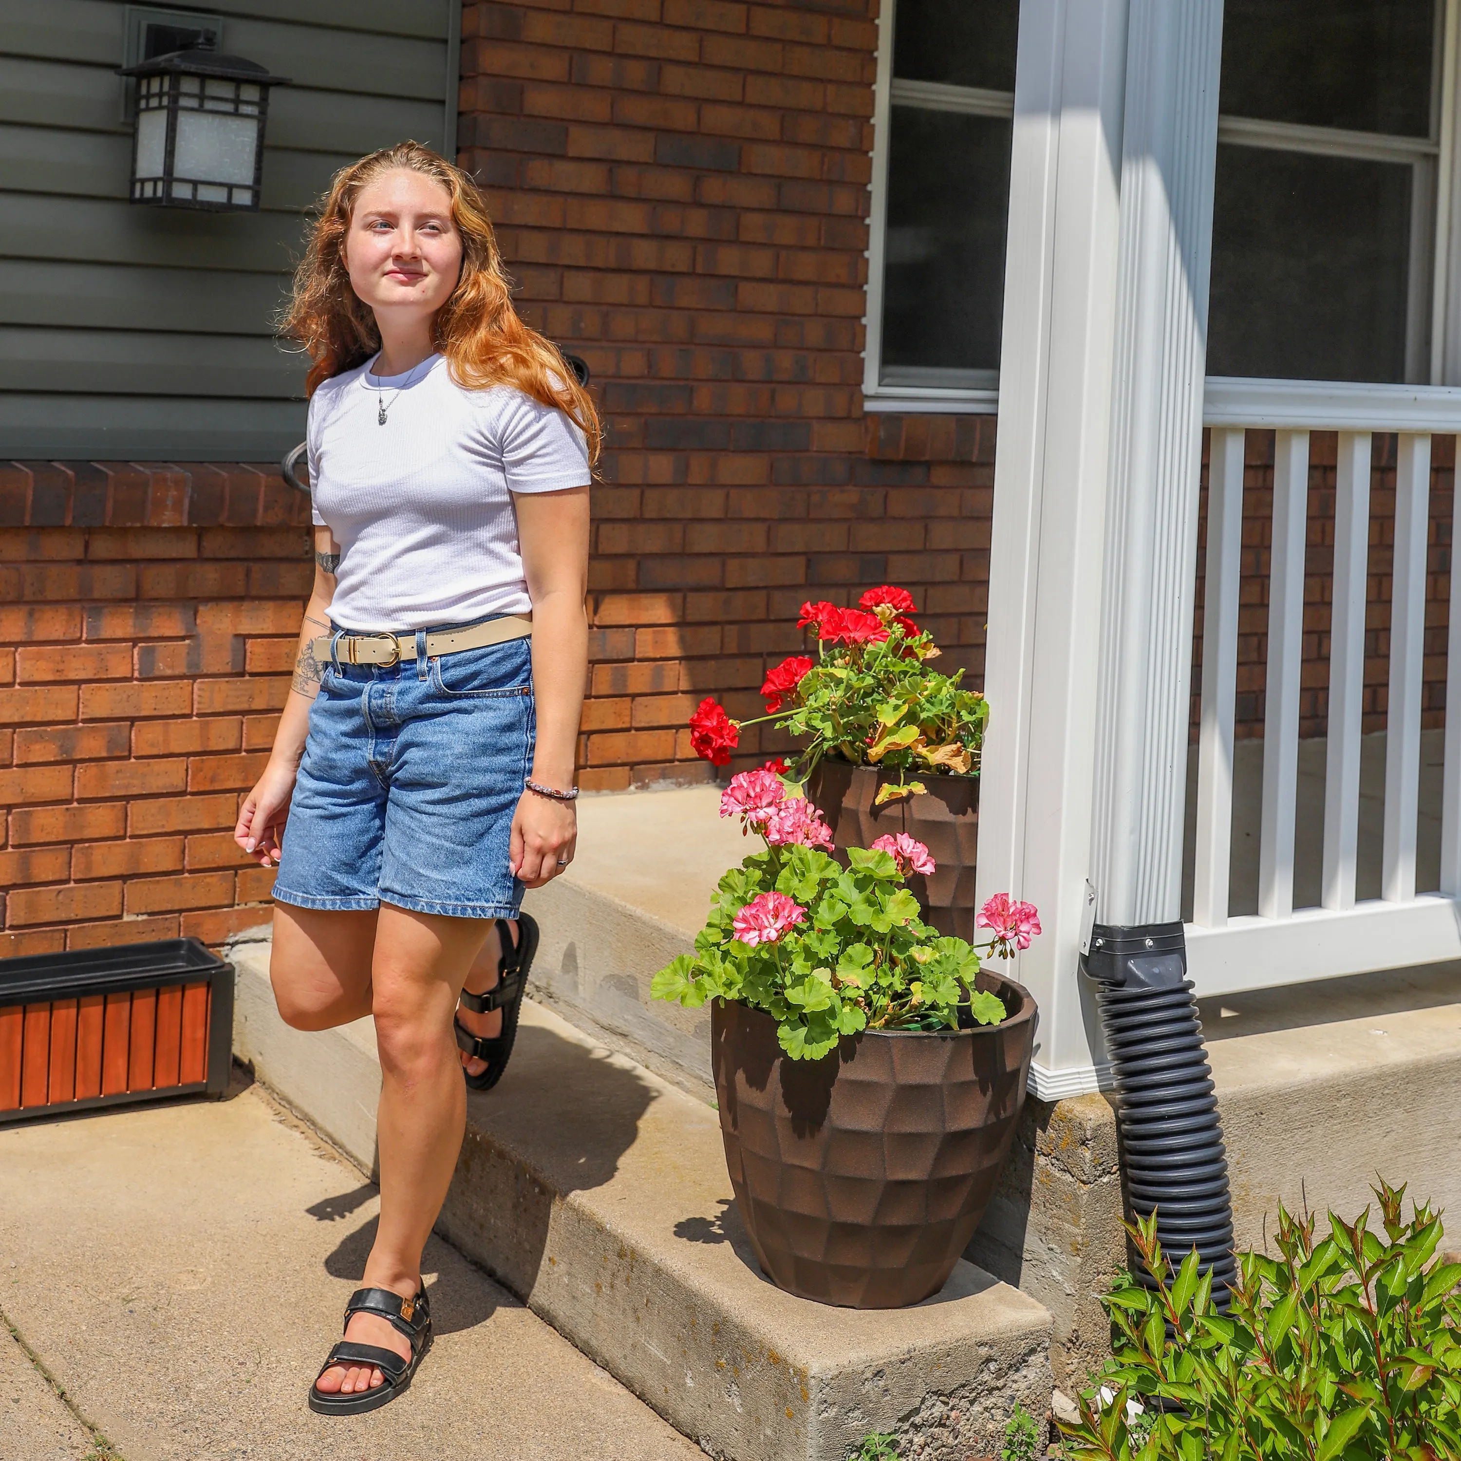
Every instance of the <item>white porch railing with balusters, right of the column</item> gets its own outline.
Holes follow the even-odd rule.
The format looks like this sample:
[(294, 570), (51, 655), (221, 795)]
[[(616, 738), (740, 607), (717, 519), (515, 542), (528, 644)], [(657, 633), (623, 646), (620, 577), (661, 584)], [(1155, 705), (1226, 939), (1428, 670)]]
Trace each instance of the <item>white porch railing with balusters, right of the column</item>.
[[(1207, 570), (1195, 856), (1188, 957), (1199, 993), (1461, 958), (1461, 574), (1452, 573), (1439, 891), (1417, 888), (1432, 431), (1461, 422), (1461, 392), (1210, 381)], [(1312, 397), (1312, 399), (1311, 399)], [(1233, 815), (1246, 428), (1274, 438), (1268, 662), (1256, 913), (1235, 915)], [(1330, 704), (1322, 799), (1300, 796), (1300, 676), (1309, 432), (1338, 430)], [(1398, 431), (1379, 897), (1357, 897), (1372, 432)], [(1195, 565), (1194, 565), (1195, 571)], [(1256, 748), (1255, 748), (1256, 749)], [(1378, 751), (1378, 747), (1373, 748)], [(1255, 773), (1256, 774), (1256, 773)], [(1433, 795), (1433, 793), (1432, 793)], [(1427, 812), (1430, 808), (1427, 808)], [(1319, 904), (1294, 907), (1296, 828), (1322, 815)], [(1363, 849), (1367, 853), (1367, 849)], [(1432, 882), (1432, 887), (1435, 884)]]

